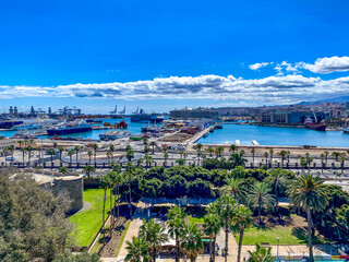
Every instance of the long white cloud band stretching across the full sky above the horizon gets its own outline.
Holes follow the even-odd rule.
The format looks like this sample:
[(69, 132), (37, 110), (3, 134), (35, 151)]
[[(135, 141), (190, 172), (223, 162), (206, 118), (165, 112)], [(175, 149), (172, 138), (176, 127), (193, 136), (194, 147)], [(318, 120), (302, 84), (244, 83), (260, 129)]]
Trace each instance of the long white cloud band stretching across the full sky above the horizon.
[(349, 95), (349, 76), (335, 80), (302, 75), (237, 79), (232, 75), (171, 76), (128, 83), (59, 86), (0, 86), (0, 98), (86, 97), (112, 99), (216, 99), (243, 104), (292, 104)]

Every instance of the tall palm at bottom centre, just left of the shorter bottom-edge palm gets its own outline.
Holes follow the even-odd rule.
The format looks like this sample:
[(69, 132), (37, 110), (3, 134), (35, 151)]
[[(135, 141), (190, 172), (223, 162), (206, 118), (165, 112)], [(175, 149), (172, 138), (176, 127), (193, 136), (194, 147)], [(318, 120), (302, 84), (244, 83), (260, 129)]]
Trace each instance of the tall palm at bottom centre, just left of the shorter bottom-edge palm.
[(169, 228), (168, 233), (170, 237), (176, 239), (176, 262), (179, 262), (180, 257), (180, 237), (183, 233), (185, 213), (184, 210), (179, 206), (173, 206), (166, 214), (167, 226)]

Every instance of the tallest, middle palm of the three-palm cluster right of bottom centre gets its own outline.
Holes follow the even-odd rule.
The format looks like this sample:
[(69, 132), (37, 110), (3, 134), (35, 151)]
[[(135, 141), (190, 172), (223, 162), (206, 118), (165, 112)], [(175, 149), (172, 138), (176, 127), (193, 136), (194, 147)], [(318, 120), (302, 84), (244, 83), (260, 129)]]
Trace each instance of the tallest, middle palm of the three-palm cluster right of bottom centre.
[(226, 231), (226, 248), (225, 248), (225, 261), (228, 260), (228, 234), (229, 234), (229, 223), (231, 222), (232, 217), (234, 216), (236, 209), (238, 206), (238, 201), (229, 195), (222, 195), (217, 200), (218, 206), (218, 215), (225, 225)]

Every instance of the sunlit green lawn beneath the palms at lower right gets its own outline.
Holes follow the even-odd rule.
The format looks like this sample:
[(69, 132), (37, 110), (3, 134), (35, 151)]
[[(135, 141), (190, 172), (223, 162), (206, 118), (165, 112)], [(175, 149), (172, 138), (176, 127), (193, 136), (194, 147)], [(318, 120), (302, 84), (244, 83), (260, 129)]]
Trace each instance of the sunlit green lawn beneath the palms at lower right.
[[(292, 215), (296, 218), (297, 215)], [(253, 225), (243, 235), (242, 245), (255, 245), (261, 242), (269, 242), (270, 245), (277, 245), (277, 238), (279, 238), (280, 245), (305, 245), (308, 242), (308, 231), (303, 227), (298, 227), (292, 224), (287, 226), (272, 226), (260, 227)], [(234, 234), (236, 240), (239, 241), (239, 234)], [(323, 237), (315, 235), (313, 243), (326, 243)]]

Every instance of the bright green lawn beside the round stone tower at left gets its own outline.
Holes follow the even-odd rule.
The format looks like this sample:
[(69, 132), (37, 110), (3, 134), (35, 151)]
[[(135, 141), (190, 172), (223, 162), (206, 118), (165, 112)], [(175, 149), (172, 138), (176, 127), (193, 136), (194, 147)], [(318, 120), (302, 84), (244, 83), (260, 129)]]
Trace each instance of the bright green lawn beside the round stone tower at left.
[[(89, 209), (76, 213), (70, 217), (70, 222), (75, 224), (74, 234), (77, 245), (81, 247), (88, 246), (101, 227), (103, 218), (103, 202), (104, 190), (103, 189), (86, 189), (84, 190), (84, 202), (91, 204)], [(109, 205), (109, 190), (107, 191), (107, 204), (106, 204), (106, 218), (110, 211)]]

